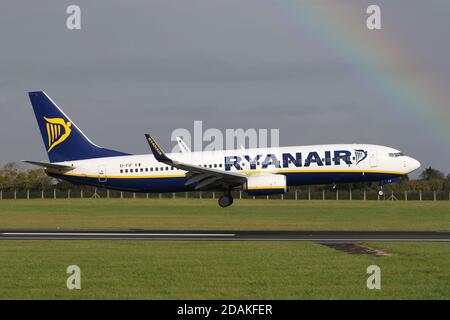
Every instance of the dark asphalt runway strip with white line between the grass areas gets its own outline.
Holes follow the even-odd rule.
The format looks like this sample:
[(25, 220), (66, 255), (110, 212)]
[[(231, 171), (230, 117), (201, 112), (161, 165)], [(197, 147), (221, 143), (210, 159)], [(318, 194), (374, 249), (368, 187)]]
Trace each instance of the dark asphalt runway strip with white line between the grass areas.
[(193, 231), (193, 230), (3, 230), (0, 240), (159, 240), (159, 241), (313, 241), (450, 242), (450, 232), (433, 231)]

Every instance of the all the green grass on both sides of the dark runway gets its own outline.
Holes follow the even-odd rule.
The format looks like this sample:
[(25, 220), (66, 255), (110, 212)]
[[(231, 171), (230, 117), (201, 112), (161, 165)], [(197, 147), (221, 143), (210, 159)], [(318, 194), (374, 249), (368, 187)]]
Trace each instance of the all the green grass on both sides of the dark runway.
[[(450, 230), (450, 203), (210, 200), (0, 201), (0, 229)], [(0, 299), (449, 299), (450, 244), (0, 241)], [(66, 288), (80, 266), (82, 289)], [(381, 268), (368, 290), (366, 268)]]

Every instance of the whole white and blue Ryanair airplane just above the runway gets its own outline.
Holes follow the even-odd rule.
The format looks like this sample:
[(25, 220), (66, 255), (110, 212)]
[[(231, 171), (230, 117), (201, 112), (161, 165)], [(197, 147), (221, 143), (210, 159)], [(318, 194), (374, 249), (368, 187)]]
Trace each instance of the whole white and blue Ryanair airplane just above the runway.
[(74, 184), (144, 193), (219, 191), (219, 205), (227, 207), (233, 190), (271, 195), (298, 185), (377, 181), (382, 186), (420, 167), (396, 149), (371, 144), (166, 154), (146, 135), (151, 153), (131, 155), (94, 144), (43, 91), (29, 97), (50, 162), (24, 162)]

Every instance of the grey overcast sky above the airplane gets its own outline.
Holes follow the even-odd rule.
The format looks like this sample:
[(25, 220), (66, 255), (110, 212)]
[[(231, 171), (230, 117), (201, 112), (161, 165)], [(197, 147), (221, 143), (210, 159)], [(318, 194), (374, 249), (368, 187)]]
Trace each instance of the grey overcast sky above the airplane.
[[(381, 31), (365, 28), (373, 1), (3, 1), (0, 165), (47, 159), (26, 94), (45, 90), (97, 144), (130, 153), (148, 152), (145, 132), (171, 149), (172, 130), (203, 120), (279, 128), (281, 145), (388, 145), (448, 173), (450, 130), (436, 127), (450, 121), (450, 93), (435, 125), (400, 108), (396, 87), (354, 61), (326, 13), (352, 12), (362, 47), (389, 38), (405, 50), (405, 59), (396, 47), (371, 55), (403, 78), (450, 88), (450, 2), (375, 2)], [(79, 31), (65, 26), (70, 4), (81, 7)], [(325, 14), (305, 23), (305, 6)]]

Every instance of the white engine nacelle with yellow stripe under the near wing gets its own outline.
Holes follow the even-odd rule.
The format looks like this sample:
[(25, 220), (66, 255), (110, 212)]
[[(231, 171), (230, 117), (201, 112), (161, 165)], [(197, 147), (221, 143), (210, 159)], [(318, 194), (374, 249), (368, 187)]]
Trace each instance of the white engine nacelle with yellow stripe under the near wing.
[(247, 178), (244, 190), (251, 196), (283, 194), (287, 191), (286, 176), (282, 174), (252, 175)]

